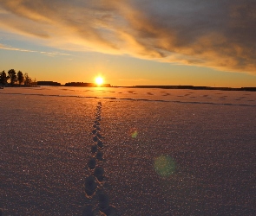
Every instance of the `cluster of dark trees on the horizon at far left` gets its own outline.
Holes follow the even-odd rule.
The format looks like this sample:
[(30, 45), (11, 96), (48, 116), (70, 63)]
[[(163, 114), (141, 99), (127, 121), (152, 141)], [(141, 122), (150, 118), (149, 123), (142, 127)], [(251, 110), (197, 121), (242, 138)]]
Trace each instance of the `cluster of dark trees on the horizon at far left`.
[[(30, 78), (28, 73), (22, 73), (21, 71), (16, 71), (14, 69), (10, 69), (8, 73), (0, 72), (0, 84), (6, 86), (8, 84), (8, 80), (10, 79), (10, 86), (14, 86), (16, 83), (19, 85), (24, 84), (25, 86), (31, 86), (33, 81)], [(36, 82), (36, 79), (34, 80)]]

